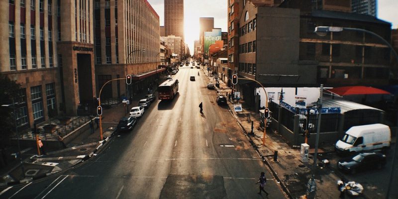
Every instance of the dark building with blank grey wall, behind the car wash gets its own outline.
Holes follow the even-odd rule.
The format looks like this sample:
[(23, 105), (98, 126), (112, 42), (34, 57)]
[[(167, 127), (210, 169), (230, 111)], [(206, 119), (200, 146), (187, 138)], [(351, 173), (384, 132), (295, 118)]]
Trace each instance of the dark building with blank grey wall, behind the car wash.
[[(269, 7), (247, 1), (238, 27), (238, 75), (266, 87), (388, 85), (390, 51), (383, 42), (357, 32), (321, 37), (313, 31), (315, 24), (367, 27), (390, 41), (391, 24), (326, 7), (313, 9), (312, 5), (311, 1), (290, 0)], [(229, 57), (231, 61), (235, 58)], [(248, 81), (239, 81), (236, 87), (252, 107), (255, 87)]]

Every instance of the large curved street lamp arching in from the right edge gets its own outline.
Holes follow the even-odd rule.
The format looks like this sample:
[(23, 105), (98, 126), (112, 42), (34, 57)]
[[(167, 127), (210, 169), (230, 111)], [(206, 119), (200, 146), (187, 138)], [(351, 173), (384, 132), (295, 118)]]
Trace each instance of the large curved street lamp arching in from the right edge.
[[(371, 35), (373, 35), (373, 36), (375, 36), (375, 37), (377, 37), (377, 38), (379, 38), (381, 41), (383, 41), (383, 43), (385, 43), (389, 48), (390, 48), (390, 50), (393, 52), (393, 54), (394, 54), (394, 56), (395, 56), (395, 58), (396, 58), (396, 61), (397, 61), (397, 64), (398, 64), (398, 54), (397, 54), (397, 52), (394, 50), (394, 48), (393, 48), (393, 46), (391, 46), (391, 44), (388, 42), (388, 41), (386, 41), (383, 37), (381, 37), (380, 35), (378, 35), (378, 34), (376, 34), (376, 33), (374, 33), (374, 32), (371, 32), (371, 31), (369, 31), (369, 30), (365, 30), (365, 29), (361, 29), (361, 28), (347, 28), (347, 27), (334, 27), (334, 26), (318, 26), (318, 27), (315, 27), (315, 33), (317, 34), (317, 35), (319, 35), (319, 36), (326, 36), (326, 34), (328, 33), (328, 32), (341, 32), (341, 31), (343, 31), (343, 30), (349, 30), (349, 31), (357, 31), (357, 32), (365, 32), (365, 33), (368, 33), (368, 34), (371, 34)], [(398, 74), (396, 74), (396, 77), (398, 77)], [(398, 131), (398, 123), (397, 123), (397, 131)], [(398, 133), (397, 133), (398, 134)], [(398, 143), (398, 135), (396, 136), (396, 143)], [(394, 150), (394, 153), (393, 153), (393, 164), (392, 164), (392, 168), (391, 168), (391, 172), (390, 172), (390, 182), (389, 182), (389, 187), (388, 187), (388, 189), (387, 189), (387, 194), (386, 194), (386, 199), (388, 199), (389, 198), (389, 195), (390, 195), (390, 190), (391, 190), (391, 187), (392, 187), (392, 183), (393, 183), (393, 176), (394, 176), (394, 168), (395, 168), (395, 163), (396, 163), (396, 153), (397, 153), (397, 150), (398, 150), (398, 147), (396, 147), (396, 149)]]

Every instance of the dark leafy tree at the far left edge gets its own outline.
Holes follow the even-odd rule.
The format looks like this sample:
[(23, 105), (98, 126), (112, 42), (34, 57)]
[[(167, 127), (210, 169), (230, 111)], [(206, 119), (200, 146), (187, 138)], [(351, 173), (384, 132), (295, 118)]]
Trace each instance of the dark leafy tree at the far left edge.
[[(0, 105), (12, 104), (12, 99), (18, 99), (21, 85), (15, 80), (10, 80), (7, 76), (0, 74)], [(13, 107), (0, 107), (0, 147), (5, 146), (10, 135), (15, 132), (15, 118), (13, 115)]]

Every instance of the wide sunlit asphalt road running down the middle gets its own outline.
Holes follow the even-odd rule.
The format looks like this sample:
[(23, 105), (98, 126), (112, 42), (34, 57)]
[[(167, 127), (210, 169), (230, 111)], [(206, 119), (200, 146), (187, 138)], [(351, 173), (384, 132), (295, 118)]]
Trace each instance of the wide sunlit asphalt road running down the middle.
[(100, 154), (60, 175), (8, 188), (0, 198), (261, 199), (267, 197), (255, 183), (262, 171), (268, 198), (286, 198), (227, 106), (215, 102), (202, 70), (190, 66), (173, 76), (180, 82), (174, 100), (156, 100)]

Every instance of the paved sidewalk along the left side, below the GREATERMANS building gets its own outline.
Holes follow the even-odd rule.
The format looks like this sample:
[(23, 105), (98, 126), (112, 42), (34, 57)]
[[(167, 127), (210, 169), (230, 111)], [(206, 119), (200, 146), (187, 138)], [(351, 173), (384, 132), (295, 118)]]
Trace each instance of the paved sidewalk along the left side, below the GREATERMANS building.
[[(164, 78), (159, 81), (162, 82)], [(154, 86), (154, 93), (157, 90), (157, 85)], [(129, 108), (136, 106), (138, 101), (143, 99), (147, 94), (146, 91), (136, 94), (132, 101), (130, 102)], [(126, 113), (126, 114), (125, 114)], [(10, 186), (19, 183), (26, 183), (36, 179), (40, 179), (70, 167), (73, 167), (85, 160), (91, 158), (93, 155), (99, 152), (100, 148), (109, 140), (109, 138), (114, 134), (119, 120), (128, 115), (129, 110), (125, 103), (120, 103), (112, 105), (111, 108), (103, 109), (102, 112), (102, 134), (103, 140), (100, 141), (100, 128), (94, 122), (94, 133), (92, 133), (89, 127), (90, 120), (87, 119), (85, 123), (74, 130), (83, 129), (78, 133), (78, 136), (67, 142), (67, 148), (52, 151), (50, 148), (46, 150), (46, 142), (43, 142), (44, 149), (46, 150), (46, 155), (37, 156), (37, 147), (21, 147), (21, 159), (23, 165), (23, 172), (21, 167), (21, 162), (19, 157), (15, 157), (17, 154), (16, 147), (11, 147), (7, 152), (12, 153), (12, 161), (7, 163), (7, 166), (0, 170), (0, 187)], [(79, 118), (79, 117), (78, 117)], [(53, 122), (50, 121), (50, 122)], [(70, 134), (71, 134), (70, 133)], [(68, 135), (70, 135), (68, 134)], [(68, 135), (64, 135), (64, 140)], [(57, 136), (58, 138), (58, 136)], [(48, 140), (56, 143), (57, 145), (62, 145), (62, 143), (52, 137)]]

